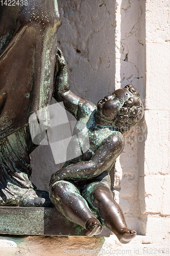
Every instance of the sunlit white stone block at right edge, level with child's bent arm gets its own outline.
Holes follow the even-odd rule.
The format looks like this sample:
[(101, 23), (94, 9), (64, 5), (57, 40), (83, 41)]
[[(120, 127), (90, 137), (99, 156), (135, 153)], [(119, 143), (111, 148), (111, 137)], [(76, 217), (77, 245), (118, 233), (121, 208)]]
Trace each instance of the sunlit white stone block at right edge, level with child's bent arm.
[[(165, 99), (166, 100), (166, 99)], [(144, 148), (144, 174), (169, 173), (169, 124), (170, 111), (146, 110), (147, 140)]]

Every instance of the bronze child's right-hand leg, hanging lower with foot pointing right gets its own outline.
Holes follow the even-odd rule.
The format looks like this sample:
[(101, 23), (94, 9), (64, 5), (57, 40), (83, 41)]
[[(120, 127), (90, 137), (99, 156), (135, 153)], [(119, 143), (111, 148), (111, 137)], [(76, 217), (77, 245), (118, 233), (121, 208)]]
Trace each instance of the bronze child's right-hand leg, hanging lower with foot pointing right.
[(135, 230), (128, 229), (122, 209), (114, 201), (107, 185), (102, 182), (92, 183), (85, 188), (83, 197), (120, 243), (127, 244), (136, 236)]

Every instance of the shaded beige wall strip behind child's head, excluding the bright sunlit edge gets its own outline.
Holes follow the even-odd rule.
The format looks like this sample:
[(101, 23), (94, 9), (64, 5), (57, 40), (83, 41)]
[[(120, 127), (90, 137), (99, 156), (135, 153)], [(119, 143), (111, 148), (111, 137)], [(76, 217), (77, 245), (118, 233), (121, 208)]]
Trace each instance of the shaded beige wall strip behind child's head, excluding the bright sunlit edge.
[[(145, 100), (145, 1), (122, 1), (120, 39), (121, 86), (133, 84)], [(130, 228), (145, 234), (144, 212), (144, 141), (147, 125), (143, 119), (125, 136), (120, 155), (122, 174), (119, 204)]]

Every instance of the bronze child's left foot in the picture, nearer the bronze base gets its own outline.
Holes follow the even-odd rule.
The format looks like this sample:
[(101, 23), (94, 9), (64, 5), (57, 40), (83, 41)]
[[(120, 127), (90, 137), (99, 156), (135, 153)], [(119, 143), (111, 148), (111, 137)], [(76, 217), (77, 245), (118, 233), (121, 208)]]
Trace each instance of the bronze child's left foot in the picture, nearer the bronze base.
[(102, 226), (100, 224), (100, 222), (95, 219), (95, 218), (90, 218), (87, 222), (86, 222), (86, 236), (87, 237), (92, 237), (92, 236), (96, 236), (97, 234), (100, 234), (102, 232)]

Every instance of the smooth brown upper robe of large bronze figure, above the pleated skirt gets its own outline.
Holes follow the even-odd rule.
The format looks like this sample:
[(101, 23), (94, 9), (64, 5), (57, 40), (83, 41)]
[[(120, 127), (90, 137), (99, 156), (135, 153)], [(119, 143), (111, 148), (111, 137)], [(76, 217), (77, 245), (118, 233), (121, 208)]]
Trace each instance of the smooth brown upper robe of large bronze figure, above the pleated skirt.
[[(0, 139), (28, 123), (50, 104), (61, 25), (57, 0), (3, 6), (0, 20)], [(46, 108), (47, 110), (47, 108)], [(41, 123), (50, 126), (43, 111)]]

